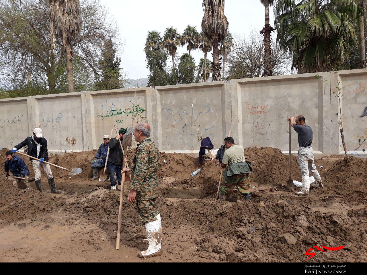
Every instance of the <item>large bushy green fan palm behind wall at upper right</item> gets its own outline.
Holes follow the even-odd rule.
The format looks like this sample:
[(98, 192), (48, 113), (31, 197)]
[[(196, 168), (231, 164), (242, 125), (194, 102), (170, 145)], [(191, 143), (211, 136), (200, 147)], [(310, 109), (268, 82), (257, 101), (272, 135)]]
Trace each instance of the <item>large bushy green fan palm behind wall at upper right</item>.
[(278, 0), (275, 5), (277, 41), (292, 56), (298, 73), (326, 72), (330, 63), (343, 69), (353, 45), (363, 9), (352, 0)]

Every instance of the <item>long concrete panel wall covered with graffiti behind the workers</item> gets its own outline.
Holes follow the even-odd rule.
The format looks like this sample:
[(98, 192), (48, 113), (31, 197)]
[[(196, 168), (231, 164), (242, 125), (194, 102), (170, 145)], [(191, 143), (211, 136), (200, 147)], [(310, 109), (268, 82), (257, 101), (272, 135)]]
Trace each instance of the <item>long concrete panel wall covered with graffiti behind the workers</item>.
[[(92, 150), (111, 129), (116, 136), (114, 125), (130, 127), (134, 109), (151, 125), (159, 150), (168, 153), (197, 153), (200, 134), (218, 148), (229, 131), (244, 147), (288, 153), (287, 117), (303, 114), (313, 129), (316, 155), (342, 154), (339, 102), (333, 94), (340, 82), (348, 153), (367, 157), (367, 69), (315, 75), (1, 99), (0, 146), (13, 147), (41, 124), (51, 152)], [(292, 153), (297, 153), (293, 129), (291, 137)]]

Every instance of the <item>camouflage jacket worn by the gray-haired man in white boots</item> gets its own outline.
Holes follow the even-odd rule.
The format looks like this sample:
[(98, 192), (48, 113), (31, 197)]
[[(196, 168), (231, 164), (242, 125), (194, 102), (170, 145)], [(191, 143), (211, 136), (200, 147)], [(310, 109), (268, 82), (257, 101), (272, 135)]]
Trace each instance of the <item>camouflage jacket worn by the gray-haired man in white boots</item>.
[(137, 190), (137, 199), (153, 199), (158, 192), (158, 148), (149, 137), (139, 143), (131, 164), (131, 189)]

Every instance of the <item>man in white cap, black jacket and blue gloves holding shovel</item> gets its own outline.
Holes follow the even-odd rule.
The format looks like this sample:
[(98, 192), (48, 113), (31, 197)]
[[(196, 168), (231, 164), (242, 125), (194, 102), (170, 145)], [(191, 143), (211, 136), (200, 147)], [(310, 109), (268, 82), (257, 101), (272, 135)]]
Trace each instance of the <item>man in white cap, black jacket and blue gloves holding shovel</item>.
[(27, 154), (39, 158), (39, 161), (36, 161), (30, 158), (30, 162), (32, 163), (33, 170), (34, 170), (34, 182), (36, 183), (37, 189), (42, 192), (41, 188), (41, 167), (43, 171), (47, 175), (48, 185), (50, 185), (51, 192), (60, 194), (62, 191), (56, 188), (55, 179), (52, 176), (51, 168), (49, 164), (43, 163), (43, 161), (48, 161), (48, 153), (47, 153), (47, 139), (42, 135), (41, 128), (34, 128), (33, 136), (27, 137), (21, 143), (16, 145), (14, 148), (11, 149), (13, 153), (18, 151), (20, 148), (28, 146)]

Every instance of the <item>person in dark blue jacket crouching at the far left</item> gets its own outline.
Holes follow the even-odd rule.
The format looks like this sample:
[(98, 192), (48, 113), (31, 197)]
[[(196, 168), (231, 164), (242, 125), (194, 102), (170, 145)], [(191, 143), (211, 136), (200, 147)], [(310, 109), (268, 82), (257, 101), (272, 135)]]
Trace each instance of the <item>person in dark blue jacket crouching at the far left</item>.
[[(13, 155), (11, 151), (7, 151), (5, 153), (7, 160), (5, 161), (4, 168), (6, 172), (6, 177), (9, 177), (9, 170), (11, 171), (13, 177), (23, 177), (26, 180), (24, 180), (24, 184), (27, 189), (30, 188), (29, 180), (29, 169), (28, 166), (25, 164), (23, 159), (21, 159), (17, 155)], [(13, 178), (13, 186), (15, 188), (19, 188), (19, 183), (21, 182), (21, 179), (15, 179)]]

